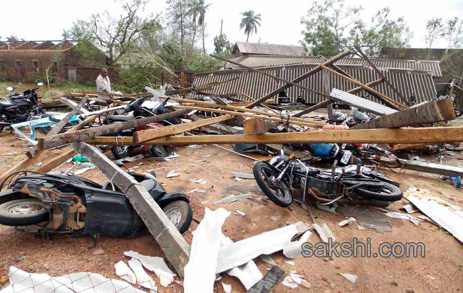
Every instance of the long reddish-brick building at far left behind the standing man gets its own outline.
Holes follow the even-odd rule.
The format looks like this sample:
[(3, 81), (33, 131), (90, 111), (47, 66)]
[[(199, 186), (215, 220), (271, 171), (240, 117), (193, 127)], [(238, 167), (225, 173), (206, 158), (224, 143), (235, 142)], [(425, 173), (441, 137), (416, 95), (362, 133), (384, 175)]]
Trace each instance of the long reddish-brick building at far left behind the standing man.
[[(106, 55), (91, 44), (79, 50), (74, 41), (0, 42), (0, 80), (36, 81), (57, 77), (72, 83), (93, 82)], [(90, 48), (90, 49), (89, 49)], [(114, 68), (108, 68), (112, 81), (118, 80)]]

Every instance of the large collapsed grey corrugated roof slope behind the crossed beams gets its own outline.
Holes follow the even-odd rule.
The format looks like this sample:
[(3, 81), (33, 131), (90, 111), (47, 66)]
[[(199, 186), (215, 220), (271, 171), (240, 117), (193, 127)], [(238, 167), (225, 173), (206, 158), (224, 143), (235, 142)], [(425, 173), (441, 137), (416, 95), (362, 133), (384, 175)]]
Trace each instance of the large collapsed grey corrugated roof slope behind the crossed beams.
[[(293, 80), (296, 77), (308, 72), (310, 69), (315, 67), (315, 65), (305, 64), (305, 65), (288, 65), (288, 66), (278, 66), (278, 67), (268, 67), (262, 70), (284, 78), (286, 80)], [(373, 69), (370, 67), (359, 66), (359, 65), (339, 65), (343, 70), (348, 74), (355, 77), (357, 80), (362, 83), (369, 83), (374, 80), (377, 80), (378, 77)], [(412, 71), (405, 69), (381, 69), (382, 73), (386, 78), (395, 85), (397, 90), (402, 93), (402, 95), (409, 99), (410, 96), (414, 96), (415, 99), (419, 102), (429, 101), (436, 95), (436, 88), (433, 83), (431, 74), (424, 71)], [(208, 84), (212, 82), (221, 82), (226, 81), (234, 77), (239, 77), (236, 80), (233, 80), (229, 83), (219, 84), (210, 92), (211, 94), (229, 94), (243, 92), (251, 97), (258, 99), (270, 93), (271, 91), (278, 88), (282, 85), (281, 82), (267, 77), (265, 75), (259, 74), (257, 72), (247, 71), (243, 69), (235, 70), (221, 70), (214, 72), (198, 73), (195, 75), (194, 83), (195, 84)], [(337, 75), (333, 75), (328, 72), (329, 86), (330, 88), (337, 88), (343, 91), (347, 91), (356, 87), (355, 84), (343, 79)], [(321, 72), (318, 72), (309, 78), (303, 80), (300, 84), (312, 88), (314, 90), (323, 92), (323, 80)], [(403, 103), (397, 94), (389, 88), (385, 83), (378, 84), (374, 88), (386, 96)], [(286, 90), (288, 97), (292, 102), (295, 102), (298, 97), (303, 98), (306, 103), (320, 103), (324, 100), (323, 97), (313, 93), (307, 92), (298, 87), (291, 86)], [(193, 96), (193, 94), (191, 94)], [(360, 91), (357, 95), (366, 96), (369, 100), (379, 103), (376, 98), (371, 97), (365, 91)], [(276, 101), (276, 98), (275, 98)]]

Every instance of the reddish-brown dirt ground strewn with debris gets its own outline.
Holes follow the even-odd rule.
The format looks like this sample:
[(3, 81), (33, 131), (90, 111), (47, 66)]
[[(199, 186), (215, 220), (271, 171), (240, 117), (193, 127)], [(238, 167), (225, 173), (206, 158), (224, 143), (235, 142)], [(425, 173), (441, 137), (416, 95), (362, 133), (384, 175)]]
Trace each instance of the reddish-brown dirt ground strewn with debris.
[[(0, 134), (0, 168), (7, 168), (18, 163), (24, 158), (28, 150), (25, 143), (16, 139), (13, 134)], [(230, 147), (230, 146), (227, 146)], [(166, 184), (167, 191), (186, 192), (194, 188), (213, 186), (207, 193), (189, 193), (194, 218), (201, 220), (205, 208), (217, 209), (219, 207), (231, 211), (230, 217), (225, 221), (223, 232), (233, 241), (257, 235), (259, 233), (283, 227), (290, 223), (303, 221), (312, 224), (307, 210), (298, 205), (289, 208), (280, 208), (266, 199), (254, 180), (234, 180), (232, 172), (252, 173), (252, 160), (240, 157), (215, 146), (201, 146), (200, 148), (173, 147), (170, 149), (178, 153), (179, 157), (168, 162), (152, 162), (145, 159), (126, 163), (127, 167), (137, 166), (139, 170), (155, 169), (158, 180)], [(62, 150), (54, 150), (58, 154)], [(212, 155), (210, 157), (206, 157)], [(53, 154), (51, 155), (53, 156)], [(197, 160), (206, 162), (194, 162)], [(433, 162), (436, 158), (429, 157)], [(460, 161), (463, 153), (457, 153), (454, 157), (444, 157), (444, 164), (463, 165)], [(59, 170), (65, 170), (71, 163), (65, 164)], [(176, 170), (179, 177), (167, 179), (166, 174)], [(451, 204), (462, 206), (462, 189), (455, 189), (448, 181), (443, 181), (437, 175), (420, 173), (415, 171), (395, 171), (381, 169), (383, 173), (401, 183), (405, 191), (414, 186), (421, 192), (438, 196)], [(81, 176), (104, 183), (107, 179), (97, 169), (92, 169)], [(207, 185), (197, 185), (190, 180), (203, 179)], [(253, 200), (235, 202), (212, 206), (212, 202), (231, 194), (250, 193)], [(399, 210), (405, 199), (392, 203), (387, 209)], [(239, 209), (246, 213), (245, 216), (233, 213)], [(391, 232), (379, 233), (376, 230), (358, 230), (356, 224), (339, 227), (338, 223), (345, 219), (343, 214), (334, 214), (317, 209), (312, 203), (312, 210), (316, 221), (320, 224), (327, 223), (333, 231), (336, 242), (352, 242), (353, 238), (366, 242), (371, 238), (372, 251), (377, 250), (382, 242), (423, 242), (425, 244), (425, 257), (418, 258), (297, 258), (294, 266), (284, 262), (281, 252), (271, 255), (279, 267), (286, 272), (295, 271), (302, 274), (310, 283), (309, 288), (298, 287), (289, 289), (282, 284), (273, 290), (274, 293), (282, 292), (461, 292), (463, 288), (463, 246), (451, 234), (428, 223), (420, 222), (414, 226), (411, 222), (398, 219), (386, 221), (392, 226)], [(352, 207), (363, 209), (363, 207)], [(420, 212), (414, 215), (419, 215)], [(270, 220), (270, 216), (277, 221)], [(185, 238), (191, 244), (192, 231), (197, 224), (193, 221)], [(321, 242), (318, 234), (314, 233), (309, 242), (312, 244)], [(144, 255), (164, 257), (163, 252), (154, 241), (149, 232), (143, 232), (132, 239), (100, 238), (97, 248), (103, 249), (104, 254), (94, 255), (92, 249), (93, 238), (68, 237), (54, 235), (45, 239), (32, 234), (17, 231), (12, 227), (0, 226), (0, 288), (8, 284), (8, 268), (18, 267), (28, 272), (48, 273), (52, 276), (73, 272), (96, 272), (106, 277), (117, 278), (114, 265), (129, 258), (123, 255), (124, 251), (137, 251)], [(265, 274), (270, 265), (255, 259), (260, 271)], [(169, 263), (168, 263), (169, 264)], [(169, 264), (172, 268), (172, 266)], [(154, 273), (156, 285), (159, 281)], [(339, 273), (352, 273), (358, 275), (355, 284), (350, 283)], [(214, 291), (223, 292), (220, 282), (231, 284), (232, 292), (245, 292), (238, 279), (223, 274), (221, 281), (215, 283)], [(159, 292), (172, 293), (183, 292), (183, 288), (173, 283), (172, 287), (159, 287)]]

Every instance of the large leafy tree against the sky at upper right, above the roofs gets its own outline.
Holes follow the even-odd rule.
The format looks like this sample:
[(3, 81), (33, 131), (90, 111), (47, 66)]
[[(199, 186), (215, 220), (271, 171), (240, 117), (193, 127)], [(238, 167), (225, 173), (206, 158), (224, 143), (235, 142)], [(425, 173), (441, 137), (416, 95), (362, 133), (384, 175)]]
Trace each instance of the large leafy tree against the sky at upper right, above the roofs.
[(302, 44), (312, 55), (326, 56), (352, 48), (354, 44), (369, 56), (377, 56), (386, 46), (408, 45), (412, 34), (403, 17), (390, 20), (390, 10), (385, 7), (366, 22), (362, 11), (362, 6), (346, 6), (344, 0), (313, 2), (301, 20), (305, 26)]

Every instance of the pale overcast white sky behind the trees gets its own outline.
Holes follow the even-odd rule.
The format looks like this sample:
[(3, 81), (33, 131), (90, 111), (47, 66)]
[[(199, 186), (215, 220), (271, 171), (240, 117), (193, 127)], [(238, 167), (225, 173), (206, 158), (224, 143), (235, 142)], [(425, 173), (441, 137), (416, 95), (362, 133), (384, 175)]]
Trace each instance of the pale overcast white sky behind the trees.
[[(0, 36), (14, 34), (26, 40), (59, 40), (62, 29), (69, 29), (77, 18), (87, 19), (92, 13), (108, 10), (118, 15), (120, 5), (114, 0), (2, 0)], [(362, 5), (367, 21), (378, 10), (388, 5), (390, 17), (405, 16), (414, 33), (410, 40), (412, 47), (425, 46), (423, 38), (425, 21), (433, 17), (463, 16), (463, 0), (346, 0), (351, 6)], [(302, 39), (301, 17), (307, 14), (311, 0), (206, 0), (212, 3), (206, 14), (206, 49), (213, 51), (213, 37), (220, 33), (223, 19), (223, 33), (231, 42), (246, 42), (246, 36), (239, 30), (241, 12), (254, 10), (262, 15), (261, 27), (250, 42), (298, 45)], [(145, 13), (162, 12), (164, 0), (150, 1)], [(199, 42), (198, 46), (202, 46)], [(445, 47), (438, 42), (434, 47)]]

